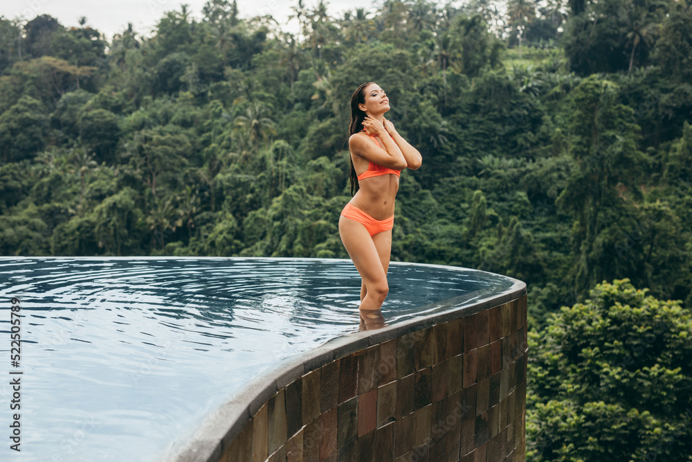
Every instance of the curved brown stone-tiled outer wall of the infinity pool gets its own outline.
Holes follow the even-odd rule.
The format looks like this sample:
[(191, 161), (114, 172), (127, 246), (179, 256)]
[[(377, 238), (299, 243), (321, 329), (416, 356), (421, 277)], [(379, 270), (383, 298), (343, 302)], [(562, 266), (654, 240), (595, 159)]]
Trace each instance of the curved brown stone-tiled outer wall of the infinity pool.
[(524, 461), (525, 292), (454, 314), (298, 364), (239, 398), (252, 403), (212, 451), (179, 460)]

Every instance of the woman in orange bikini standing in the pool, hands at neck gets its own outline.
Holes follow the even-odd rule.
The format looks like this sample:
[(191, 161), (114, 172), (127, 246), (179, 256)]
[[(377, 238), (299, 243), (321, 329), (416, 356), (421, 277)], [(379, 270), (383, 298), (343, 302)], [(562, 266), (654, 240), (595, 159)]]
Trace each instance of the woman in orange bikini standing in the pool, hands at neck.
[[(385, 119), (390, 110), (385, 91), (376, 83), (358, 87), (351, 97), (349, 151), (351, 195), (339, 218), (339, 234), (361, 274), (361, 324), (384, 323), (380, 308), (389, 292), (387, 270), (392, 251), (394, 199), (399, 172), (421, 166), (420, 152)], [(355, 194), (354, 194), (355, 193)]]

